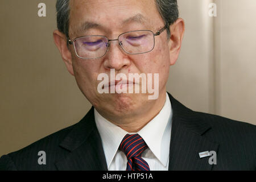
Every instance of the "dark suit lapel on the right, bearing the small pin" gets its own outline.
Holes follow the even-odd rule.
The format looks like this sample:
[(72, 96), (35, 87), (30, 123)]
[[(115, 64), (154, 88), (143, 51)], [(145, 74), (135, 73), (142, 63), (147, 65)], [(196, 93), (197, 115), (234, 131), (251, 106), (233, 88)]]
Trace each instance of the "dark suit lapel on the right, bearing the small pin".
[(172, 130), (169, 170), (210, 170), (209, 156), (199, 157), (199, 152), (216, 151), (218, 144), (204, 137), (210, 125), (195, 111), (188, 109), (169, 94), (172, 105)]

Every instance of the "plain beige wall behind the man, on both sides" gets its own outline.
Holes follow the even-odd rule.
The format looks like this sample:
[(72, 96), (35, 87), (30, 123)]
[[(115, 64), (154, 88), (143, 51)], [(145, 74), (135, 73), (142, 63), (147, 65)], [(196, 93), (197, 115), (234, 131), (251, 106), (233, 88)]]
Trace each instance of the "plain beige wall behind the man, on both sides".
[[(90, 108), (53, 43), (55, 2), (0, 2), (0, 155), (78, 122)], [(217, 17), (208, 16), (209, 2)], [(256, 1), (178, 3), (186, 31), (168, 91), (193, 110), (255, 125)]]

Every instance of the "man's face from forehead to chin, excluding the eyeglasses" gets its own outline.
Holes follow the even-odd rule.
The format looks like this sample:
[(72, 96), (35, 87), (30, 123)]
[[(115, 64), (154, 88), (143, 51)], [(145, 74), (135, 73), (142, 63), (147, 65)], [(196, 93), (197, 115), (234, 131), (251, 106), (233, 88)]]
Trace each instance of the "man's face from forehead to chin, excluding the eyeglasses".
[[(151, 30), (155, 33), (164, 27), (154, 0), (73, 0), (70, 2), (70, 9), (71, 40), (86, 35), (104, 35), (108, 39), (117, 39), (123, 32)], [(85, 22), (90, 25), (86, 30)], [(167, 39), (166, 30), (155, 36), (155, 47), (148, 53), (129, 55), (122, 50), (117, 41), (111, 42), (110, 45), (105, 56), (86, 60), (77, 57), (73, 47), (69, 46), (77, 84), (100, 113), (117, 118), (129, 117), (150, 109), (159, 98), (166, 97), (166, 82), (170, 68), (170, 40)], [(110, 69), (115, 69), (115, 75), (124, 73), (127, 77), (129, 73), (159, 73), (159, 98), (148, 100), (148, 94), (141, 92), (98, 93), (97, 86), (101, 81), (97, 80), (97, 77), (100, 73), (106, 73), (110, 78)]]

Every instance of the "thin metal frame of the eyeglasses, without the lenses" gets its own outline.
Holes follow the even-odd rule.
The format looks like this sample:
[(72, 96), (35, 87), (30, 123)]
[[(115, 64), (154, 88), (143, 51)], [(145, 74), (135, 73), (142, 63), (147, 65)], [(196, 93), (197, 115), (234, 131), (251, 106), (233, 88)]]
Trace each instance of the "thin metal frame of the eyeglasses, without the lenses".
[[(102, 55), (102, 56), (100, 56), (100, 57), (96, 57), (96, 58), (84, 58), (84, 57), (81, 57), (81, 56), (77, 55), (77, 51), (76, 51), (74, 42), (75, 42), (75, 40), (77, 40), (77, 39), (79, 39), (79, 38), (84, 38), (84, 37), (86, 37), (86, 36), (80, 36), (80, 37), (75, 38), (75, 39), (73, 39), (73, 40), (71, 40), (70, 38), (68, 38), (68, 44), (69, 44), (69, 45), (73, 45), (73, 49), (74, 49), (74, 51), (75, 51), (75, 53), (76, 53), (76, 56), (79, 57), (80, 59), (100, 59), (101, 57), (103, 57), (103, 56), (106, 55), (106, 52), (108, 52), (108, 48), (110, 47), (110, 43), (109, 43), (109, 42), (112, 42), (112, 41), (118, 41), (119, 46), (121, 46), (121, 48), (123, 49), (123, 51), (125, 51), (127, 54), (129, 54), (129, 55), (140, 55), (140, 54), (142, 54), (142, 53), (150, 52), (150, 51), (152, 51), (152, 50), (155, 48), (155, 36), (160, 35), (164, 30), (166, 30), (166, 28), (168, 28), (167, 25), (165, 25), (163, 28), (160, 28), (160, 29), (159, 29), (157, 32), (155, 32), (155, 33), (152, 32), (151, 30), (134, 30), (134, 31), (123, 32), (122, 34), (118, 35), (118, 38), (117, 38), (117, 39), (109, 39), (109, 38), (107, 38), (107, 37), (104, 36), (104, 35), (86, 35), (86, 36), (101, 36), (101, 37), (105, 37), (106, 39), (108, 39), (108, 43), (107, 43), (108, 46), (107, 46), (107, 48), (106, 48), (106, 51), (105, 51), (104, 55)], [(129, 52), (127, 52), (127, 51), (123, 48), (122, 43), (119, 41), (119, 37), (120, 37), (121, 35), (123, 35), (123, 34), (129, 33), (129, 32), (136, 32), (136, 31), (150, 31), (150, 32), (152, 32), (152, 34), (154, 35), (154, 36), (153, 36), (153, 37), (154, 37), (154, 46), (152, 47), (152, 49), (151, 49), (150, 51), (142, 52), (142, 53), (129, 53)]]

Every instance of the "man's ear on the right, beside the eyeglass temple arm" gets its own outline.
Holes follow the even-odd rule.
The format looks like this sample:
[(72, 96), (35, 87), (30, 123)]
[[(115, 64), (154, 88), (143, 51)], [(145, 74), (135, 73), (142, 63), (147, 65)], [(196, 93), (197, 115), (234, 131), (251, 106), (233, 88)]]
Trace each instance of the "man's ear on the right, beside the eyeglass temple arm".
[(174, 65), (180, 53), (181, 42), (185, 31), (184, 20), (178, 18), (176, 22), (170, 26), (170, 31), (171, 37), (168, 42), (170, 48), (170, 65)]

